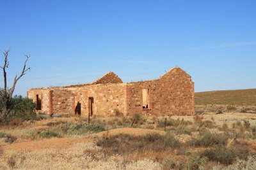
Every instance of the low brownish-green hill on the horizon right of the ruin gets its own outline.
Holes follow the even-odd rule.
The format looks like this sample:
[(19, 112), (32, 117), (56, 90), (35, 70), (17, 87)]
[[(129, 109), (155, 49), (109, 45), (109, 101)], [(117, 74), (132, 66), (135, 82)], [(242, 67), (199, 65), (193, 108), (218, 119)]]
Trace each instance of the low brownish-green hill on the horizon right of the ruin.
[(197, 92), (195, 104), (256, 105), (256, 89)]

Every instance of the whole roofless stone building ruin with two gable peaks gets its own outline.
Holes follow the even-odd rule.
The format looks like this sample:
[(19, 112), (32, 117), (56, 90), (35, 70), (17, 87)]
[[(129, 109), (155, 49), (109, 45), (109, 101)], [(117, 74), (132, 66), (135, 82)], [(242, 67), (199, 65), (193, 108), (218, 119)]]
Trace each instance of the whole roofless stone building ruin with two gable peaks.
[(156, 80), (123, 83), (109, 72), (93, 83), (29, 89), (36, 113), (92, 115), (193, 115), (194, 82), (180, 67)]

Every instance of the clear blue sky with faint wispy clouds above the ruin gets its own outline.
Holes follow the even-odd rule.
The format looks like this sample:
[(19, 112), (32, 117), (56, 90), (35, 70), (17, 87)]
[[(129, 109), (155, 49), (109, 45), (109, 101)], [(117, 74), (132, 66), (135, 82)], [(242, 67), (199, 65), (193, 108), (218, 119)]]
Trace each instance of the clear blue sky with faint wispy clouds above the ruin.
[(154, 80), (175, 66), (192, 76), (196, 92), (256, 88), (254, 0), (0, 0), (0, 7), (0, 49), (12, 47), (9, 87), (31, 55), (15, 94), (89, 83), (108, 71), (124, 82)]

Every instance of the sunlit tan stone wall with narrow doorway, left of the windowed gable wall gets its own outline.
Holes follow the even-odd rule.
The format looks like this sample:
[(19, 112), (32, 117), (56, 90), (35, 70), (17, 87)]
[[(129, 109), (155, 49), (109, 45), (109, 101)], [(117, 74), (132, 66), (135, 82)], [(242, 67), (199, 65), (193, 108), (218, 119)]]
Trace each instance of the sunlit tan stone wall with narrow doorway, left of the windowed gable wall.
[(89, 85), (70, 90), (74, 91), (74, 107), (81, 103), (81, 116), (88, 116), (89, 97), (93, 97), (93, 115), (113, 115), (115, 110), (122, 113), (127, 110), (126, 83)]

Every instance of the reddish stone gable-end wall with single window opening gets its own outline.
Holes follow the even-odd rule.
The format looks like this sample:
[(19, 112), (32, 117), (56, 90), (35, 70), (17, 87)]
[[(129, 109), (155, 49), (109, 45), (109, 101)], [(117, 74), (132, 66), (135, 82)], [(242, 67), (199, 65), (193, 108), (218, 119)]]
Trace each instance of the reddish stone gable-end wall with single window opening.
[[(142, 108), (142, 89), (149, 90), (149, 108)], [(127, 84), (127, 112), (146, 115), (193, 115), (194, 83), (175, 67), (157, 80)]]

